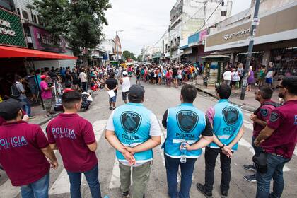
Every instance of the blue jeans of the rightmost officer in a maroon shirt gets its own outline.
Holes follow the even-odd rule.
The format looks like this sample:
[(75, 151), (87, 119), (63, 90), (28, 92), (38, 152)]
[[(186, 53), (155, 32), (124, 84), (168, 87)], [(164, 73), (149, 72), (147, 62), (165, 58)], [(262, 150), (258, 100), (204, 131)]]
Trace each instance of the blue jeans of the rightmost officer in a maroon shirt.
[[(257, 172), (257, 198), (281, 197), (284, 190), (283, 168), (289, 159), (267, 154), (267, 173)], [(270, 181), (273, 178), (273, 192), (269, 194)]]

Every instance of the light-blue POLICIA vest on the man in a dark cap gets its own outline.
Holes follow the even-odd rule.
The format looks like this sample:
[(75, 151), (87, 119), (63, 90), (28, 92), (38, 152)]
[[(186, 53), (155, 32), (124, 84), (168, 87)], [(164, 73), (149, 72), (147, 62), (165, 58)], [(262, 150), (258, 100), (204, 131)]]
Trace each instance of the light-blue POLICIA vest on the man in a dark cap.
[[(141, 103), (127, 103), (115, 109), (113, 124), (115, 135), (124, 146), (134, 147), (150, 139), (152, 112)], [(117, 159), (127, 162), (122, 153), (116, 151)], [(153, 151), (135, 153), (136, 163), (145, 163), (153, 159)]]

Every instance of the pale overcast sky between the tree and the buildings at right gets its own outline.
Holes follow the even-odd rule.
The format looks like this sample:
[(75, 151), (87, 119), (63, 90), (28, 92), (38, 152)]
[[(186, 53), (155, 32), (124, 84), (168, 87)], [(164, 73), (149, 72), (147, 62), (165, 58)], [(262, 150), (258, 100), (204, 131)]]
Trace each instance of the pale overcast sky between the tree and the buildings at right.
[[(169, 25), (169, 13), (177, 0), (110, 0), (112, 8), (105, 12), (108, 25), (103, 27), (106, 39), (118, 33), (122, 50), (136, 55), (144, 45), (154, 45)], [(232, 15), (244, 11), (250, 0), (233, 0)]]

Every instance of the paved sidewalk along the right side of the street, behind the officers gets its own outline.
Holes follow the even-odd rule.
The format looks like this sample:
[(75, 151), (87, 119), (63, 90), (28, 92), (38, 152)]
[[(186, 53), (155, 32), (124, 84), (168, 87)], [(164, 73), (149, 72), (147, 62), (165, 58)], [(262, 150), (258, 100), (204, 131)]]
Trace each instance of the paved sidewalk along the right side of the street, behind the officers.
[[(192, 81), (192, 82), (188, 81), (187, 83), (190, 83), (190, 84), (196, 86), (196, 88), (199, 91), (202, 91), (202, 92), (209, 94), (212, 97), (216, 98), (215, 89), (214, 88), (206, 88), (206, 86), (203, 85), (202, 76), (198, 76), (197, 85), (195, 85), (194, 81)], [(232, 90), (229, 100), (231, 103), (238, 105), (243, 110), (248, 110), (248, 111), (254, 112), (255, 110), (257, 110), (258, 107), (260, 107), (260, 103), (257, 100), (255, 100), (255, 91), (256, 90), (257, 90), (257, 87), (252, 86), (252, 91), (246, 91), (245, 92), (245, 100), (239, 99), (241, 89)], [(274, 100), (277, 103), (279, 102), (279, 97), (278, 97), (277, 91), (274, 91), (274, 93), (272, 95), (272, 100)]]

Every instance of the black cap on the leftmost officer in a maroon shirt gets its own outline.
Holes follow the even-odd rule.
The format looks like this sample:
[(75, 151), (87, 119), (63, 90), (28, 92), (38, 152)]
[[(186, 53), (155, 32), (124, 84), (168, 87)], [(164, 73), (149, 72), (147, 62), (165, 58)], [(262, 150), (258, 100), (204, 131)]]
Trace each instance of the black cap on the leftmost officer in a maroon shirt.
[(12, 120), (16, 118), (18, 111), (22, 109), (23, 105), (24, 103), (12, 98), (4, 100), (0, 103), (0, 116), (5, 120)]

